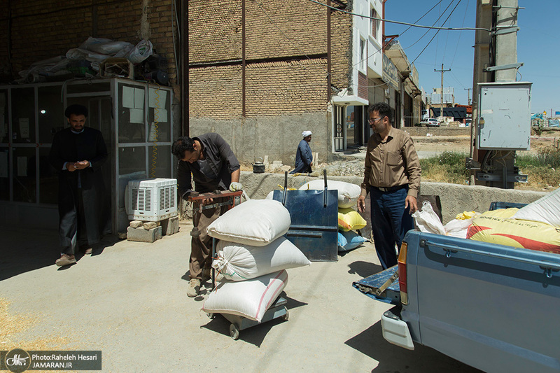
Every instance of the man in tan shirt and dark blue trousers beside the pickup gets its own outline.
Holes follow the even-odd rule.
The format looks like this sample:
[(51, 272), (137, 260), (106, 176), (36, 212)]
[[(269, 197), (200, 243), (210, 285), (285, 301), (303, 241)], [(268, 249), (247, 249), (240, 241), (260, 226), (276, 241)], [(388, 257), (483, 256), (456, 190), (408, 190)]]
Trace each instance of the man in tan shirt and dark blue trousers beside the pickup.
[(369, 109), (373, 134), (367, 141), (362, 192), (358, 211), (365, 211), (365, 197), (370, 193), (372, 232), (381, 267), (397, 264), (405, 233), (414, 228), (412, 213), (418, 209), (420, 162), (407, 132), (393, 128), (393, 111), (384, 102)]

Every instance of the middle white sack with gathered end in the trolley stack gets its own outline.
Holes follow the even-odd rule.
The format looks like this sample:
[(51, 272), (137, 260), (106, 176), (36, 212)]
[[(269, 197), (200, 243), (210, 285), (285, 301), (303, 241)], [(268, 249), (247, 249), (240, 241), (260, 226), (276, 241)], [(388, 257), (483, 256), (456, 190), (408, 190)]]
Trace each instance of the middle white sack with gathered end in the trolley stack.
[(227, 241), (218, 242), (218, 258), (212, 267), (226, 280), (244, 281), (278, 272), (281, 269), (311, 265), (297, 246), (284, 237), (275, 239), (267, 246), (248, 246)]

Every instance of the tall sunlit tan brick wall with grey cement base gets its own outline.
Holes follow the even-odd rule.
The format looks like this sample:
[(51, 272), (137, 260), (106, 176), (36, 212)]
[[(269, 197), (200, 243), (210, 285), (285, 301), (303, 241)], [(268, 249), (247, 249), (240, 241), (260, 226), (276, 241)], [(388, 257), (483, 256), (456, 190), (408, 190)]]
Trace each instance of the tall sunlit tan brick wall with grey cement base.
[(293, 164), (309, 129), (324, 162), (332, 153), (329, 91), (349, 87), (351, 36), (351, 15), (308, 0), (190, 1), (190, 134), (222, 134), (244, 162)]

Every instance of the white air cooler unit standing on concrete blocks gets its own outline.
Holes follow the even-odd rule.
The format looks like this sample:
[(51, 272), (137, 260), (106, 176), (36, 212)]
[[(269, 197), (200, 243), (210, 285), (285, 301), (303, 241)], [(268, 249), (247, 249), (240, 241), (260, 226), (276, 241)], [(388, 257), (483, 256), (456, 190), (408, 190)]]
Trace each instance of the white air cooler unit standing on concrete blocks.
[(160, 221), (172, 218), (177, 215), (177, 180), (131, 180), (125, 198), (130, 220)]

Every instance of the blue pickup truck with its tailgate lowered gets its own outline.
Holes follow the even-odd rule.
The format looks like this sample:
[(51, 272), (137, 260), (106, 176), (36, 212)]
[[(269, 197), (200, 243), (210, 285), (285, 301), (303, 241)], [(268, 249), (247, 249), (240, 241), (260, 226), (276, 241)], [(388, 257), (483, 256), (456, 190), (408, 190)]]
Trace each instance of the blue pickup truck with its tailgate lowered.
[(381, 317), (392, 344), (485, 372), (560, 372), (559, 254), (409, 231), (398, 266), (353, 286), (396, 304)]

